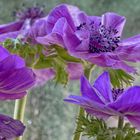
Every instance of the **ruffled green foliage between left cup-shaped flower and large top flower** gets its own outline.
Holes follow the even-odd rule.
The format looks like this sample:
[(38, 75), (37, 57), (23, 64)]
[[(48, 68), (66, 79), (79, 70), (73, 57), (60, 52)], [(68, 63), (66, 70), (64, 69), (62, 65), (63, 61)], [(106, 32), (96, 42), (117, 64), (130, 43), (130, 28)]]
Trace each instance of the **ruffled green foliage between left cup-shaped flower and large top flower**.
[(19, 39), (7, 39), (3, 46), (11, 53), (23, 57), (28, 67), (34, 69), (53, 68), (56, 72), (56, 83), (64, 85), (68, 82), (67, 63), (81, 62), (80, 59), (70, 56), (66, 49), (57, 45), (48, 47), (42, 45), (32, 46), (30, 43), (23, 43)]

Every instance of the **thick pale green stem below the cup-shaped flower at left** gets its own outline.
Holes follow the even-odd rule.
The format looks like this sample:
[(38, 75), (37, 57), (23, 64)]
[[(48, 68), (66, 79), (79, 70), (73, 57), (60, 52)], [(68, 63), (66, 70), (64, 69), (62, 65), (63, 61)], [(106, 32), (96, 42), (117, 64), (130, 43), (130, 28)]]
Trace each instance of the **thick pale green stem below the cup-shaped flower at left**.
[[(26, 101), (27, 101), (27, 95), (25, 95), (22, 99), (15, 101), (14, 119), (24, 122)], [(16, 138), (16, 140), (22, 140), (22, 139), (23, 139), (22, 136)]]

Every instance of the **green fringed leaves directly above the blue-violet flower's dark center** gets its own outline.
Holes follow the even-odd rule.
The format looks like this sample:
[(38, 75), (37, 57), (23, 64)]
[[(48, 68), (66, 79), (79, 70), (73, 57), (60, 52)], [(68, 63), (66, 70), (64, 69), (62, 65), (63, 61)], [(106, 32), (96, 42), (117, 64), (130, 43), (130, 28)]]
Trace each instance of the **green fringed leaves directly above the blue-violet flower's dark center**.
[(130, 86), (134, 81), (134, 77), (123, 70), (109, 69), (109, 74), (114, 88), (124, 88), (124, 86)]

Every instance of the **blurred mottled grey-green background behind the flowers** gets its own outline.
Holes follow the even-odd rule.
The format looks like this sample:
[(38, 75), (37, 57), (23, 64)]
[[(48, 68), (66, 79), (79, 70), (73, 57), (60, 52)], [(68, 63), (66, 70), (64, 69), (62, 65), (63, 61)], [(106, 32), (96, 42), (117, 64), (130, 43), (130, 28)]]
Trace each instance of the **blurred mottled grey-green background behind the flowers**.
[[(14, 20), (13, 12), (23, 4), (31, 7), (35, 3), (44, 6), (46, 13), (60, 3), (78, 6), (90, 15), (117, 12), (127, 18), (123, 38), (140, 33), (140, 0), (0, 0), (0, 24)], [(139, 76), (135, 84), (139, 84)], [(68, 94), (79, 94), (79, 82), (69, 82), (66, 87), (48, 81), (33, 89), (28, 95), (25, 123), (25, 140), (71, 140), (78, 108), (66, 104)], [(0, 102), (0, 112), (12, 116), (14, 102)]]

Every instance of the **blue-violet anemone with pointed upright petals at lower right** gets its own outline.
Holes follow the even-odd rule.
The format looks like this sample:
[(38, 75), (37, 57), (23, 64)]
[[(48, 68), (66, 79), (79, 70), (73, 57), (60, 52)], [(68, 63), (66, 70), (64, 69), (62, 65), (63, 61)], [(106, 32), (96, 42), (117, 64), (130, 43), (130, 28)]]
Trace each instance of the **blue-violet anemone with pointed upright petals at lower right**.
[(111, 88), (109, 73), (104, 72), (94, 85), (81, 77), (81, 93), (82, 96), (70, 95), (65, 101), (80, 105), (87, 113), (104, 120), (111, 116), (125, 117), (140, 130), (140, 86)]

